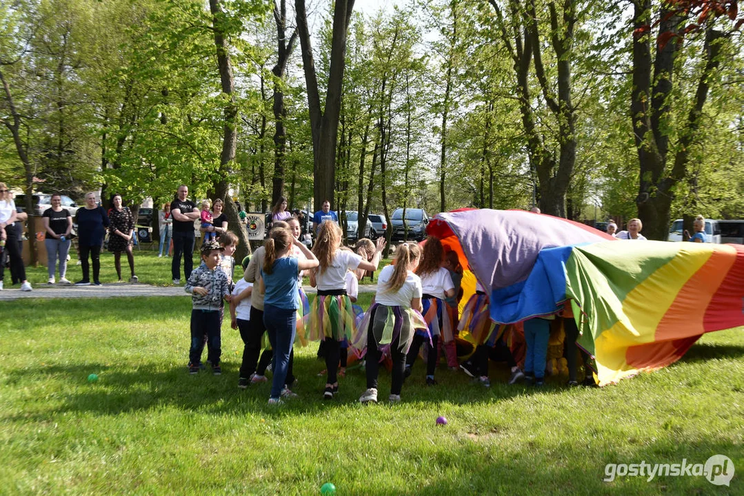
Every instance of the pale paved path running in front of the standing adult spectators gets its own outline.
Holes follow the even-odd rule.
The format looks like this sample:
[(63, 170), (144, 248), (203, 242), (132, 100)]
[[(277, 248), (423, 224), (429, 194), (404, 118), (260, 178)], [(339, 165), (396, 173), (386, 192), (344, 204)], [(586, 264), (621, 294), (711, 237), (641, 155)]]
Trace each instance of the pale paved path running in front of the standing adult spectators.
[[(315, 294), (315, 288), (303, 286), (307, 294)], [(360, 293), (377, 291), (376, 284), (360, 284)], [(0, 291), (0, 301), (22, 300), (25, 298), (112, 298), (136, 296), (190, 296), (183, 286), (150, 286), (149, 284), (111, 283), (103, 286), (62, 286), (38, 284), (33, 291), (22, 292), (20, 289)]]

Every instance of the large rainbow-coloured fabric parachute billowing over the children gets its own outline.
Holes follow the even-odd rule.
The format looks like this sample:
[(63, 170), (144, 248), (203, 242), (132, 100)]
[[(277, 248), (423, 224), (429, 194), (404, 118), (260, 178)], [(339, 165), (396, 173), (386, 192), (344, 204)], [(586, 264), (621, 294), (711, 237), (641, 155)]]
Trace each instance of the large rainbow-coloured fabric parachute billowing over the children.
[(600, 385), (666, 367), (703, 333), (744, 325), (744, 246), (607, 242), (592, 228), (528, 212), (437, 218), (490, 288), (494, 321), (551, 315), (571, 301)]

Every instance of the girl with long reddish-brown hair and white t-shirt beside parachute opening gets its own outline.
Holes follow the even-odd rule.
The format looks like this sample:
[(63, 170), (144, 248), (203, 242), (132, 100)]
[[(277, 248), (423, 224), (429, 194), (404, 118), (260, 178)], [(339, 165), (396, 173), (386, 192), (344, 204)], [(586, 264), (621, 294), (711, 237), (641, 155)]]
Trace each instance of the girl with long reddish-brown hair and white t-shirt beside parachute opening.
[(455, 284), (449, 271), (441, 267), (444, 251), (439, 238), (429, 236), (423, 245), (421, 263), (416, 269), (416, 274), (421, 278), (423, 288), (423, 315), (429, 326), (429, 332), (416, 332), (411, 350), (405, 358), (405, 377), (411, 375), (421, 344), (431, 335), (431, 344), (426, 344), (426, 385), (434, 386), (434, 370), (437, 367), (437, 344), (440, 339), (449, 343), (454, 339), (452, 333), (452, 321), (449, 320), (444, 302), (444, 297), (455, 296)]

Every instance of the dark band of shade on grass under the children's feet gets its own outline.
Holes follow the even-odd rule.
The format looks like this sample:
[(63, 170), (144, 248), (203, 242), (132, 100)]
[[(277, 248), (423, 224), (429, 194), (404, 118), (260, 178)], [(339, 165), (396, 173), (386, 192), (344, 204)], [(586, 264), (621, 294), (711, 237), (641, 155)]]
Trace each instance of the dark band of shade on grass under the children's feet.
[[(176, 407), (185, 411), (213, 414), (251, 414), (262, 416), (312, 415), (324, 413), (333, 408), (350, 408), (359, 405), (358, 399), (366, 388), (364, 370), (350, 370), (347, 376), (340, 379), (339, 394), (331, 401), (321, 399), (325, 383), (324, 376), (318, 376), (323, 368), (321, 362), (310, 357), (295, 358), (295, 376), (298, 382), (292, 389), (298, 393), (295, 399), (289, 399), (280, 408), (267, 405), (271, 389), (271, 377), (262, 384), (251, 384), (247, 390), (237, 387), (239, 364), (222, 362), (222, 376), (214, 376), (209, 367), (199, 374), (190, 376), (187, 367), (179, 365), (164, 370), (164, 366), (145, 364), (135, 367), (129, 364), (72, 364), (25, 367), (10, 370), (7, 373), (7, 385), (22, 387), (38, 381), (55, 381), (62, 384), (59, 394), (64, 398), (60, 408), (54, 413), (86, 412), (97, 415), (115, 415), (135, 411), (147, 411), (156, 408)], [(89, 382), (88, 376), (95, 373), (98, 380)], [(419, 375), (417, 377), (416, 375)], [(494, 376), (500, 376), (499, 373)], [(414, 367), (414, 376), (407, 379), (403, 386), (403, 401), (422, 402), (432, 405), (448, 403), (450, 405), (482, 405), (512, 399), (515, 396), (529, 394), (561, 394), (565, 388), (558, 382), (536, 389), (525, 385), (508, 386), (497, 383), (490, 389), (484, 388), (461, 373), (443, 370), (437, 373), (440, 383), (436, 387), (427, 387), (423, 367)], [(380, 405), (387, 408), (390, 388), (390, 375), (381, 370), (379, 376)], [(395, 405), (389, 405), (395, 408)], [(27, 411), (19, 416), (23, 419), (37, 417), (48, 419), (52, 412), (33, 413)], [(13, 417), (7, 417), (13, 419)]]

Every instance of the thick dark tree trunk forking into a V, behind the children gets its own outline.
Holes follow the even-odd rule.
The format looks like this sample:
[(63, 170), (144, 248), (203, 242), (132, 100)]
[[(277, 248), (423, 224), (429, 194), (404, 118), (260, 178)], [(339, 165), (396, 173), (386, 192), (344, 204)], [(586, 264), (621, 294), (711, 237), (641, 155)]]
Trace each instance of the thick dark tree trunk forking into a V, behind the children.
[[(333, 34), (331, 37), (330, 70), (325, 105), (321, 109), (318, 76), (312, 55), (310, 29), (307, 25), (305, 0), (295, 0), (297, 28), (302, 49), (302, 66), (305, 73), (307, 103), (312, 130), (313, 196), (315, 210), (320, 210), (324, 200), (333, 202), (335, 183), (336, 138), (341, 112), (341, 86), (344, 80), (347, 28), (351, 19), (354, 0), (337, 0), (333, 7)], [(331, 204), (333, 208), (333, 204)]]

